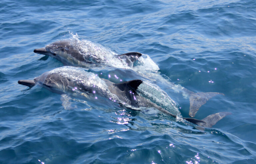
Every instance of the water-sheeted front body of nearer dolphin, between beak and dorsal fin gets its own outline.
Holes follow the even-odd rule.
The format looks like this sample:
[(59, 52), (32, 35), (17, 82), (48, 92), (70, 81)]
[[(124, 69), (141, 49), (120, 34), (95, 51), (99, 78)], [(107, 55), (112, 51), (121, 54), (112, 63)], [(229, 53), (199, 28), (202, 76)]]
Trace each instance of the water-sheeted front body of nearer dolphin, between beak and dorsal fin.
[[(45, 72), (34, 79), (44, 88), (55, 93), (79, 93), (80, 95), (95, 95), (111, 100), (117, 100), (106, 83), (97, 75), (82, 68), (64, 66)], [(94, 97), (95, 97), (94, 96)]]

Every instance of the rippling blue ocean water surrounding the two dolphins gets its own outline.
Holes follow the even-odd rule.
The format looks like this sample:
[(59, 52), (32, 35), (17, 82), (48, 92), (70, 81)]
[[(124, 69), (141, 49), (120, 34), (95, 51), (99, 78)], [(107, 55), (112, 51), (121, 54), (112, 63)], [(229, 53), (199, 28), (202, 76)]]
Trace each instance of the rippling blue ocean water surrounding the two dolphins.
[[(256, 162), (255, 1), (2, 0), (0, 20), (1, 164)], [(112, 81), (113, 75), (148, 80), (177, 103), (183, 117), (189, 117), (189, 100), (170, 82), (223, 93), (195, 118), (232, 115), (199, 130), (114, 103), (72, 98), (67, 110), (61, 95), (17, 83), (63, 66), (33, 49), (74, 38), (116, 54), (143, 53), (159, 68), (152, 74), (144, 66), (89, 72)]]

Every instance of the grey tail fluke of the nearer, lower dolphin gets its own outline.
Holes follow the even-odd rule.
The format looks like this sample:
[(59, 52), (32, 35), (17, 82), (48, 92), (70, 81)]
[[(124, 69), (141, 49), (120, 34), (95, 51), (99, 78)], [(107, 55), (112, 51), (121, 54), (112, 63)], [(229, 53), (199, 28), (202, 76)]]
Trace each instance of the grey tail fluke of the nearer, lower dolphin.
[(230, 112), (219, 112), (219, 113), (209, 115), (206, 118), (204, 118), (203, 120), (197, 120), (197, 119), (192, 119), (192, 118), (183, 118), (183, 119), (187, 120), (188, 122), (197, 124), (199, 126), (212, 127), (213, 125), (215, 125), (218, 121), (220, 121), (227, 115), (231, 115), (231, 113)]

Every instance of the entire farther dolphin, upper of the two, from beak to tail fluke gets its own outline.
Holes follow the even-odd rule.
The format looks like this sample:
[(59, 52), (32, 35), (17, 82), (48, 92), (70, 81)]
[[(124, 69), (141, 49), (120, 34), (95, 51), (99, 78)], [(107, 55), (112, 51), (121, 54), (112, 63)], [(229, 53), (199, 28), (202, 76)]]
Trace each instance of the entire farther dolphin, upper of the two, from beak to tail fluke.
[[(184, 98), (189, 98), (190, 117), (195, 117), (199, 108), (212, 97), (216, 95), (224, 95), (223, 93), (218, 92), (192, 92), (181, 85), (176, 85), (162, 77), (158, 72), (159, 67), (148, 55), (142, 55), (139, 52), (129, 52), (118, 55), (108, 48), (91, 41), (56, 41), (46, 45), (46, 47), (34, 49), (34, 52), (52, 56), (65, 65), (82, 66), (85, 68), (111, 66), (115, 68), (129, 68), (135, 70), (151, 81), (161, 81), (161, 84), (166, 84), (170, 89), (181, 93)], [(134, 63), (137, 64), (137, 66), (134, 66)]]

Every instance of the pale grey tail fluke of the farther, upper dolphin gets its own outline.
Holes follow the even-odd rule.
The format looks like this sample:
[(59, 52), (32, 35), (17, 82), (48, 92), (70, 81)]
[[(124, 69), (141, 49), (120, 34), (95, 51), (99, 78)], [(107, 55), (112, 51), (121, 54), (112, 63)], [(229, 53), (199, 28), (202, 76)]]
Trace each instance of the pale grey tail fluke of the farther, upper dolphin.
[(212, 97), (216, 95), (224, 95), (223, 93), (217, 93), (217, 92), (199, 92), (199, 93), (192, 93), (190, 94), (189, 101), (190, 101), (190, 107), (189, 107), (189, 116), (195, 117), (195, 114), (199, 110), (199, 108), (204, 105), (207, 100), (211, 99)]

